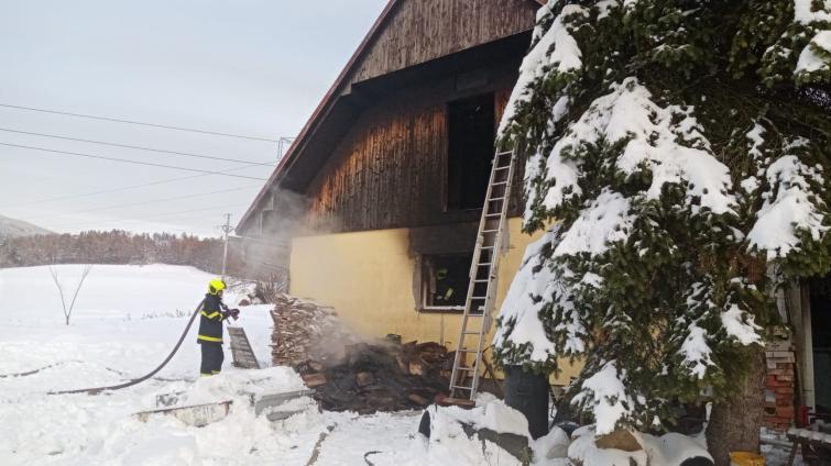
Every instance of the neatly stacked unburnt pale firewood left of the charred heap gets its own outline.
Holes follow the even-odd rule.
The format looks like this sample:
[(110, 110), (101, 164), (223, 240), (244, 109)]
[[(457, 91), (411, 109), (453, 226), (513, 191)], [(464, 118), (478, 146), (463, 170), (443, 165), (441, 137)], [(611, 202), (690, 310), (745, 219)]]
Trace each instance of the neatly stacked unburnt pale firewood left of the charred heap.
[(343, 346), (356, 340), (346, 332), (332, 308), (284, 293), (276, 293), (272, 333), (272, 362), (292, 366), (308, 359), (340, 357)]

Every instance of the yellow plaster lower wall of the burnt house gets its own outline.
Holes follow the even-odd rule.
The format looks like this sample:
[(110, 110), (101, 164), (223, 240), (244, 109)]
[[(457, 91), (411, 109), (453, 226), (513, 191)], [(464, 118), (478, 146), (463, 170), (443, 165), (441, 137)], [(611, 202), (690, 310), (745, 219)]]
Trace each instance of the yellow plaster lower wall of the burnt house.
[[(500, 259), (496, 311), (520, 268), (525, 247), (542, 235), (523, 234), (521, 226), (521, 219), (509, 220), (509, 247)], [(341, 320), (364, 336), (394, 333), (402, 335), (404, 342), (444, 340), (455, 348), (461, 315), (416, 310), (416, 265), (408, 242), (407, 229), (294, 238), (289, 292), (335, 307)], [(492, 340), (493, 328), (486, 344)], [(570, 368), (553, 381), (564, 384), (573, 375), (577, 370)]]

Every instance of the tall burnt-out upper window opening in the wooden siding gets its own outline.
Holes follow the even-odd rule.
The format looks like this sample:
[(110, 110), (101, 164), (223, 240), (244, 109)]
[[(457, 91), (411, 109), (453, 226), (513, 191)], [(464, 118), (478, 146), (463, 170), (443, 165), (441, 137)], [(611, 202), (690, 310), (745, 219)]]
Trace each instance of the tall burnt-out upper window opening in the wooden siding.
[(494, 95), (448, 103), (446, 210), (481, 209), (491, 176)]

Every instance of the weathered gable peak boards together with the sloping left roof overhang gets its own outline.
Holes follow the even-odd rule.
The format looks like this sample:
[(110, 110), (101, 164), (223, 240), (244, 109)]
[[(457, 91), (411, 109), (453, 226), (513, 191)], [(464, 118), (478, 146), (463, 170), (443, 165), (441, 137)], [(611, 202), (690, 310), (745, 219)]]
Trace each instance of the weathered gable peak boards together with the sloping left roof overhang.
[[(261, 213), (275, 209), (276, 192), (306, 189), (368, 102), (374, 100), (354, 91), (359, 84), (420, 69), (506, 37), (527, 35), (535, 25), (536, 11), (545, 3), (546, 0), (390, 0), (240, 220), (238, 231), (243, 235), (255, 232)], [(527, 38), (523, 41), (527, 44)], [(518, 63), (514, 66), (518, 67)]]

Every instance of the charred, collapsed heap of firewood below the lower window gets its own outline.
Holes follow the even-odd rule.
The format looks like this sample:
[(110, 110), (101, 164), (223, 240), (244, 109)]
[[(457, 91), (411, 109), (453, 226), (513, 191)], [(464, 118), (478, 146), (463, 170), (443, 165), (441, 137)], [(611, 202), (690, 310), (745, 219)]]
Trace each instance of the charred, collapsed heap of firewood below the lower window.
[(448, 396), (453, 353), (438, 343), (358, 343), (340, 359), (297, 366), (315, 399), (330, 411), (398, 411), (424, 408)]

